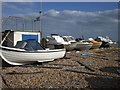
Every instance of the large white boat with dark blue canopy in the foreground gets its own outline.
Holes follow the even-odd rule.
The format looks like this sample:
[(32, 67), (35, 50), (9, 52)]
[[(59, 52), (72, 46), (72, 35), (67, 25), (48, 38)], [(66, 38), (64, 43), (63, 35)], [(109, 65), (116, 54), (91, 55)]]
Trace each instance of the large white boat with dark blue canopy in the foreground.
[(13, 48), (0, 46), (1, 57), (11, 65), (53, 61), (63, 58), (65, 53), (65, 49), (45, 49), (35, 39), (18, 41)]

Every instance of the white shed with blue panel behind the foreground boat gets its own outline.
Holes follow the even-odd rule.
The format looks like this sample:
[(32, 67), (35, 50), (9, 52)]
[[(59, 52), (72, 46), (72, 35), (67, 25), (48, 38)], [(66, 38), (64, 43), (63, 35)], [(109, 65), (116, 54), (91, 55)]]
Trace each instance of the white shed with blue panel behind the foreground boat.
[(16, 45), (17, 41), (27, 40), (27, 39), (36, 39), (39, 43), (41, 40), (39, 31), (12, 31), (6, 30), (3, 32), (2, 38), (4, 38), (7, 33), (10, 32), (5, 39), (3, 46), (13, 47)]

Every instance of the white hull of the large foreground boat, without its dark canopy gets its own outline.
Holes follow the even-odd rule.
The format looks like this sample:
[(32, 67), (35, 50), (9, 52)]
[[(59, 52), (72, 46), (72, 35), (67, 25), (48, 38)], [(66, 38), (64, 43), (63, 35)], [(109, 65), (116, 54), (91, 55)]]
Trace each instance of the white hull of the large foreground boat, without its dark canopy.
[(2, 47), (0, 49), (1, 57), (9, 64), (23, 65), (33, 62), (47, 62), (65, 56), (65, 49), (39, 50), (39, 51), (19, 51), (12, 48)]

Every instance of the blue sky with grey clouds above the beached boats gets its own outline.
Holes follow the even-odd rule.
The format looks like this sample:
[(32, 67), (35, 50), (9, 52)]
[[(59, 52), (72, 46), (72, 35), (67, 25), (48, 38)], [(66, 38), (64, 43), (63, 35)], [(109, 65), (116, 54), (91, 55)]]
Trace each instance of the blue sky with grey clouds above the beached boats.
[[(39, 16), (40, 3), (3, 2), (2, 9), (3, 17), (36, 18)], [(98, 35), (118, 39), (117, 2), (43, 2), (42, 12), (44, 37), (54, 33), (75, 38), (83, 35), (85, 39), (95, 39)], [(22, 26), (19, 24), (19, 27)], [(26, 25), (26, 29), (31, 29), (30, 25)], [(39, 29), (38, 23), (34, 29)]]

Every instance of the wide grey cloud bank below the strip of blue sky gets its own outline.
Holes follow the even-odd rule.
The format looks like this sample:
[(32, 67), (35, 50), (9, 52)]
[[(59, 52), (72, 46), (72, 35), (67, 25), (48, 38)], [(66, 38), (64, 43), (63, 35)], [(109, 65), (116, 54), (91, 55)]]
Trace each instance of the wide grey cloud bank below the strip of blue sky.
[[(35, 18), (39, 16), (39, 13), (33, 12), (17, 16)], [(36, 29), (39, 30), (39, 24)], [(102, 35), (117, 40), (118, 10), (98, 12), (49, 10), (42, 14), (42, 29), (44, 36), (57, 33), (72, 35), (75, 38), (83, 35), (87, 39), (88, 37), (96, 38), (98, 35)]]

